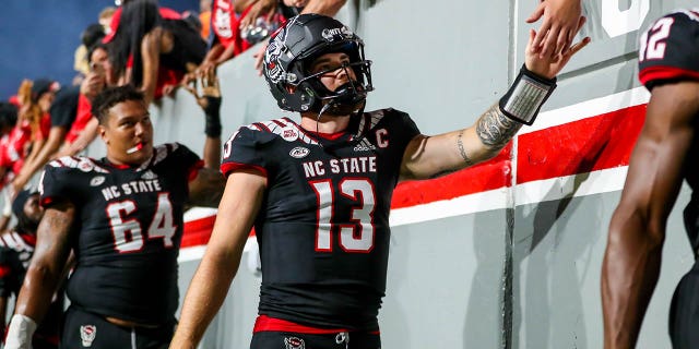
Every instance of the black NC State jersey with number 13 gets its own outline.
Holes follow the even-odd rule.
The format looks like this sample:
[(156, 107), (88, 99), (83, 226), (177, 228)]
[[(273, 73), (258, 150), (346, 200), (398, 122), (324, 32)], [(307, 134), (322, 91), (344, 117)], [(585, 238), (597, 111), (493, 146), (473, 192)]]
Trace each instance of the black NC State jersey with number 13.
[(346, 132), (328, 137), (282, 118), (242, 127), (228, 140), (223, 173), (253, 167), (268, 179), (254, 222), (260, 314), (378, 329), (391, 196), (418, 133), (406, 113), (383, 109), (352, 117)]

